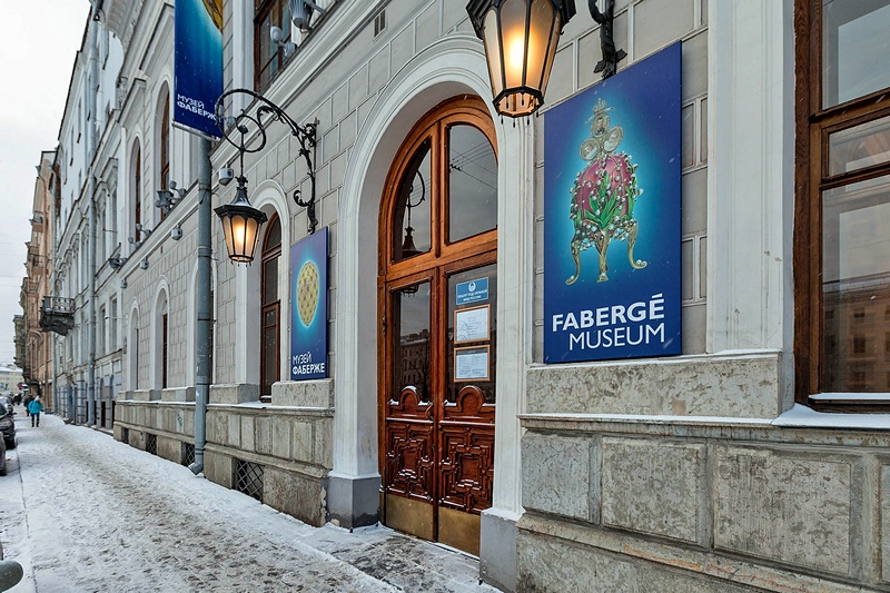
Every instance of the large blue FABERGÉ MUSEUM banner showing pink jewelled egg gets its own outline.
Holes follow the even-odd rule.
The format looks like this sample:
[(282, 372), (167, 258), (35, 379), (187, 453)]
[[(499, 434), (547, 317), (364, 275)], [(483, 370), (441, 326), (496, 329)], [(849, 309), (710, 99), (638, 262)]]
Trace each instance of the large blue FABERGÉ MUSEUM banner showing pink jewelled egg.
[(682, 353), (681, 46), (544, 116), (544, 362)]

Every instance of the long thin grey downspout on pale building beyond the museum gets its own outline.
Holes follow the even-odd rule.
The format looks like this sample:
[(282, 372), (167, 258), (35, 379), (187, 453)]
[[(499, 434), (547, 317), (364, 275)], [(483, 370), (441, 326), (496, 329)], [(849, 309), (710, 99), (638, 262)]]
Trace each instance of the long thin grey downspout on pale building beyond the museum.
[[(90, 122), (87, 126), (87, 155), (90, 169), (93, 167), (96, 160), (96, 145), (98, 135), (98, 113), (96, 112), (96, 93), (98, 92), (97, 81), (99, 79), (99, 60), (97, 53), (99, 52), (99, 7), (92, 2), (92, 21), (89, 23), (90, 28), (90, 73), (88, 78), (87, 99), (89, 101)], [(89, 385), (87, 387), (87, 425), (96, 426), (96, 171), (90, 170), (89, 174), (89, 191), (87, 198), (89, 199), (89, 287), (87, 294), (90, 298), (89, 305), (89, 329), (87, 334), (87, 344), (89, 348)]]

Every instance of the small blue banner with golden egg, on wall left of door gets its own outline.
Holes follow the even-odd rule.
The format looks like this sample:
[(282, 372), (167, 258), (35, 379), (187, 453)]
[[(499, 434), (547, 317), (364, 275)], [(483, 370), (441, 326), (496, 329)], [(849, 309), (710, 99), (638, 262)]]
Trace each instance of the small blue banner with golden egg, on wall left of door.
[(290, 248), (290, 380), (327, 377), (327, 227)]

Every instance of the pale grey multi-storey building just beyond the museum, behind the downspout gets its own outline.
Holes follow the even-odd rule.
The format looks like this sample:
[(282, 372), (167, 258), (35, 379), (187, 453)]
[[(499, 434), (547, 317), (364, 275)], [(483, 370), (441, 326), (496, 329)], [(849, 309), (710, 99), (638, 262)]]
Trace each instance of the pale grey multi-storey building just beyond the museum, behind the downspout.
[(120, 285), (109, 257), (121, 249), (117, 194), (119, 40), (88, 16), (52, 164), (52, 290), (41, 327), (52, 343), (56, 407), (76, 423), (110, 428), (120, 391)]

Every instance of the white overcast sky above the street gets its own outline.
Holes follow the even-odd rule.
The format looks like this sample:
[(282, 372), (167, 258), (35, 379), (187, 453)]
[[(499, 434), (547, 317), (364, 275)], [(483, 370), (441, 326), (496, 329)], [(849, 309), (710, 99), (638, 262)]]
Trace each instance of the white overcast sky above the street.
[(0, 0), (0, 363), (16, 354), (34, 167), (56, 148), (89, 9), (88, 0)]

